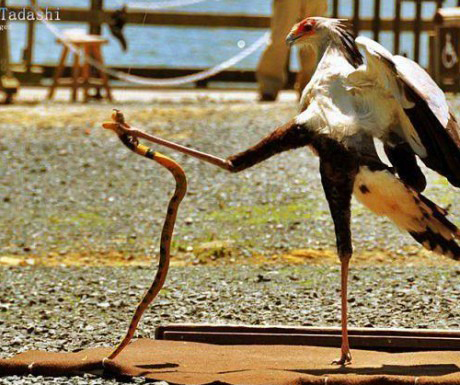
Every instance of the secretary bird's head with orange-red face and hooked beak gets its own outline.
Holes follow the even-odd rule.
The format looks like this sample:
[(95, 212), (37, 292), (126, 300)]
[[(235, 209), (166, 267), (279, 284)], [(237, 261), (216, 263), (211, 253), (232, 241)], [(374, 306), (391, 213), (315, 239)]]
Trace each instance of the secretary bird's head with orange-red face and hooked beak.
[(292, 27), (286, 37), (290, 46), (318, 46), (322, 42), (333, 40), (345, 26), (345, 20), (325, 17), (308, 17)]

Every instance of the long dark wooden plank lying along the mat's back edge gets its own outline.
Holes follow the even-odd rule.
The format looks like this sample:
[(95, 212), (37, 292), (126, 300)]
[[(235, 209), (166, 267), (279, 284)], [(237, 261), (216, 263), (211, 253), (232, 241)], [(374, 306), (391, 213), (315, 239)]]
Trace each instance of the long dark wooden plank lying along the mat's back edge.
[[(460, 331), (350, 329), (355, 349), (392, 352), (459, 350)], [(169, 325), (155, 331), (156, 339), (219, 345), (340, 346), (340, 328)]]

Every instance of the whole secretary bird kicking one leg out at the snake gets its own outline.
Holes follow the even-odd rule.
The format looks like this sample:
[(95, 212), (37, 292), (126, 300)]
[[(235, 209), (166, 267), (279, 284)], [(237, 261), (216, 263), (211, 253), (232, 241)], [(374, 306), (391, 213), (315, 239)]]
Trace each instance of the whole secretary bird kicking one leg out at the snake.
[[(300, 113), (244, 152), (221, 159), (146, 134), (143, 138), (231, 172), (281, 152), (308, 146), (319, 156), (320, 174), (334, 222), (341, 261), (342, 346), (338, 365), (351, 362), (347, 329), (347, 281), (352, 239), (351, 197), (390, 218), (426, 249), (460, 260), (460, 231), (448, 212), (422, 195), (426, 179), (417, 157), (460, 187), (460, 135), (446, 98), (415, 62), (393, 56), (368, 38), (354, 39), (344, 20), (307, 18), (287, 37), (311, 46), (317, 69), (303, 91)], [(359, 48), (365, 52), (366, 63)], [(393, 167), (379, 159), (373, 138), (383, 142)]]

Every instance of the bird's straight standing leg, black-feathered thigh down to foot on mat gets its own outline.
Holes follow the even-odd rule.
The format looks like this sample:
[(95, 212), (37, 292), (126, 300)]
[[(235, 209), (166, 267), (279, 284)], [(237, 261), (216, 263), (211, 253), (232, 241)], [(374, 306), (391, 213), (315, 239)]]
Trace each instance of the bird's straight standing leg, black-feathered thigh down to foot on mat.
[[(345, 167), (343, 167), (345, 165)], [(347, 168), (349, 166), (349, 168)], [(350, 344), (348, 342), (348, 268), (353, 253), (351, 243), (351, 196), (355, 168), (353, 162), (333, 164), (321, 161), (321, 181), (326, 194), (337, 241), (337, 251), (341, 263), (341, 302), (342, 302), (342, 347), (340, 359), (334, 361), (337, 365), (346, 365), (351, 362)]]

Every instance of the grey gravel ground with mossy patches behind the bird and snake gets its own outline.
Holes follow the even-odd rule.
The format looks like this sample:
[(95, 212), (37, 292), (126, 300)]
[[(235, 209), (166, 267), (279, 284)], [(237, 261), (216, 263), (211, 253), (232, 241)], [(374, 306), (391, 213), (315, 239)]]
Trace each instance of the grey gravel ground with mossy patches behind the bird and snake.
[[(206, 98), (116, 107), (133, 125), (223, 157), (295, 114), (285, 103)], [(0, 161), (7, 165), (0, 169), (0, 264), (35, 265), (0, 268), (3, 357), (31, 348), (113, 345), (150, 284), (145, 267), (94, 267), (150, 264), (174, 187), (166, 171), (100, 128), (111, 108), (53, 103), (0, 110)], [(317, 159), (301, 149), (227, 174), (173, 156), (186, 170), (189, 192), (176, 227), (175, 266), (140, 336), (169, 322), (337, 326), (339, 272)], [(453, 218), (460, 218), (455, 190), (433, 173), (428, 177), (427, 195), (452, 205)], [(353, 214), (359, 263), (350, 324), (460, 328), (459, 265), (421, 251), (359, 204)], [(242, 266), (254, 259), (272, 264)], [(182, 262), (188, 267), (179, 267)], [(190, 267), (210, 263), (230, 265)], [(0, 379), (33, 383), (114, 381)]]

